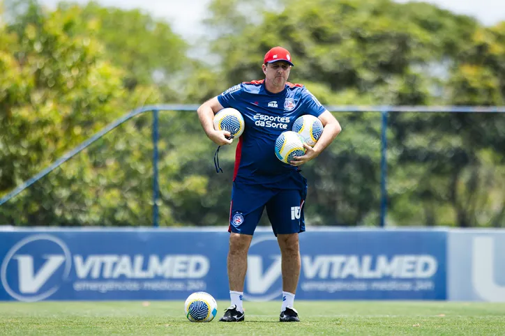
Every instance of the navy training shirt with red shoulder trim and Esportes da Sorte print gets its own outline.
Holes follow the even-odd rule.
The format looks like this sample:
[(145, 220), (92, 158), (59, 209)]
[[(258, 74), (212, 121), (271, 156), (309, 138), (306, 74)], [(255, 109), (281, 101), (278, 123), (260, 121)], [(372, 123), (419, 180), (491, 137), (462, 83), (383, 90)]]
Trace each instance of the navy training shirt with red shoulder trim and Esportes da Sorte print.
[(303, 114), (318, 117), (326, 109), (301, 84), (287, 82), (280, 93), (266, 90), (264, 79), (232, 86), (218, 96), (223, 107), (241, 112), (246, 123), (236, 148), (234, 181), (284, 189), (298, 168), (281, 162), (275, 153), (280, 133), (292, 130)]

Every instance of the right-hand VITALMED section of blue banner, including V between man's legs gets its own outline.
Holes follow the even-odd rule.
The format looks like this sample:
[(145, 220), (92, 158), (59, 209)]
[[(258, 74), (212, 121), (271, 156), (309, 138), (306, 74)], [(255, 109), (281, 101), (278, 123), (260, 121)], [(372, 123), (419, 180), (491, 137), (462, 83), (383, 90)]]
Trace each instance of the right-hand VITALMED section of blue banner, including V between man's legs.
[[(446, 298), (446, 231), (342, 229), (300, 234), (296, 299)], [(244, 297), (280, 297), (280, 253), (271, 234), (256, 235)]]

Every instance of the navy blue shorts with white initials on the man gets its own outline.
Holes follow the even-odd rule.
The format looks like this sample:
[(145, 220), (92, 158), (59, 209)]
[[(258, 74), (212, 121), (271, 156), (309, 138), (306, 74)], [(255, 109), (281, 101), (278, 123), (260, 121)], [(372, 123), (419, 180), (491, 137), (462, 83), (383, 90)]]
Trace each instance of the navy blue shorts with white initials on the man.
[(254, 234), (264, 208), (273, 234), (296, 234), (305, 231), (303, 204), (307, 181), (298, 189), (272, 189), (234, 181), (229, 211), (229, 232)]

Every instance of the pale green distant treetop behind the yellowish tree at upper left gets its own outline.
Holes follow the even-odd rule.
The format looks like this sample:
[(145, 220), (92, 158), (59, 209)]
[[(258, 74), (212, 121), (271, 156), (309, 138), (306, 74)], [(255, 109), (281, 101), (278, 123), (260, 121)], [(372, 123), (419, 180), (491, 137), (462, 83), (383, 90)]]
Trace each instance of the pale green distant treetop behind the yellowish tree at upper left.
[(171, 77), (186, 66), (186, 42), (169, 24), (140, 10), (104, 8), (96, 2), (83, 8), (61, 3), (59, 10), (76, 13), (80, 22), (73, 33), (84, 33), (105, 45), (107, 59), (126, 72), (123, 81), (127, 89), (152, 82), (169, 86)]

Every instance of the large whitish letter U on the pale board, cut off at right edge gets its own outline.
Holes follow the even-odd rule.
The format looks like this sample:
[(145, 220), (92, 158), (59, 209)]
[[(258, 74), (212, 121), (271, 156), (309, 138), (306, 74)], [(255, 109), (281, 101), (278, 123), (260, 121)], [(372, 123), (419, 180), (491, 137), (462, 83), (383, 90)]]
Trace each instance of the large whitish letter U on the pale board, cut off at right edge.
[(495, 240), (492, 237), (475, 237), (472, 244), (472, 282), (483, 300), (505, 301), (505, 287), (495, 282)]

